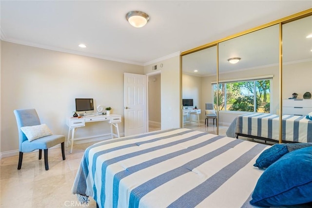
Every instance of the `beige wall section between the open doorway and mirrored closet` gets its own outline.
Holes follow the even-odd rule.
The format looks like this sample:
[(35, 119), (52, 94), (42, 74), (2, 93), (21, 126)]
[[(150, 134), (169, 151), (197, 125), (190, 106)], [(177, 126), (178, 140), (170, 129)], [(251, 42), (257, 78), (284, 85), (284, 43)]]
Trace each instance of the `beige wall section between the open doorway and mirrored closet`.
[[(144, 73), (155, 73), (152, 66), (161, 71), (161, 129), (180, 127), (180, 57), (170, 57), (161, 62), (144, 66)], [(163, 64), (160, 67), (160, 64)]]

